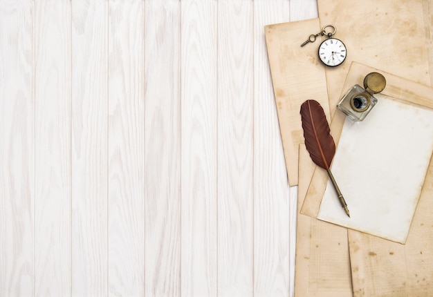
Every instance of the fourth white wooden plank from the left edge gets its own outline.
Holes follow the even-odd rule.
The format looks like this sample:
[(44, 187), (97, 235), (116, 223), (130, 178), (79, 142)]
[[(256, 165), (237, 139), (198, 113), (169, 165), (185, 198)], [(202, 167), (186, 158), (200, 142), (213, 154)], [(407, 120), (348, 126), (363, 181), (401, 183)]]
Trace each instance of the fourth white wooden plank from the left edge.
[(143, 1), (109, 1), (109, 296), (145, 288), (143, 32)]

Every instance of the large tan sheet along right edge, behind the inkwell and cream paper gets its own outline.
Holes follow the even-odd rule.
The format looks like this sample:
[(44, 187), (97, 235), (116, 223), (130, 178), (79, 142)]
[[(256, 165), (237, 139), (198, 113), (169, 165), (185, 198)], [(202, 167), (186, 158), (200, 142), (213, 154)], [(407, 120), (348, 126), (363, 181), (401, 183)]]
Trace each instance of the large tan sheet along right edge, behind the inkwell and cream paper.
[[(338, 33), (342, 35), (336, 37), (344, 38), (346, 44), (352, 45), (354, 41), (360, 45), (360, 40), (371, 40), (371, 45), (359, 46), (353, 55), (349, 53), (349, 62), (360, 61), (433, 86), (433, 0), (317, 0), (317, 5), (321, 25), (344, 25), (343, 28), (338, 26)], [(399, 25), (394, 26), (396, 23)], [(407, 40), (410, 42), (405, 42)], [(409, 57), (413, 52), (416, 55)], [(342, 91), (338, 82), (344, 81), (349, 63), (343, 66), (340, 70), (326, 70), (331, 114)], [(433, 249), (429, 247), (433, 244), (433, 205), (432, 199), (426, 199), (433, 197), (432, 176), (430, 163), (406, 245), (349, 230), (354, 296), (432, 294), (433, 269), (430, 263), (433, 262)], [(359, 252), (353, 256), (353, 251)]]

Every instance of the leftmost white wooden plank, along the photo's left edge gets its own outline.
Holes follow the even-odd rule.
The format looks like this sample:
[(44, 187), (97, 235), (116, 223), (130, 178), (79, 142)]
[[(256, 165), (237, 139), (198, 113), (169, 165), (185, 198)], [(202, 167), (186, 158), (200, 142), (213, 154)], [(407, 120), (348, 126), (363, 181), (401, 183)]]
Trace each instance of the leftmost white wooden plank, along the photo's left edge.
[(0, 1), (0, 296), (33, 296), (34, 2)]

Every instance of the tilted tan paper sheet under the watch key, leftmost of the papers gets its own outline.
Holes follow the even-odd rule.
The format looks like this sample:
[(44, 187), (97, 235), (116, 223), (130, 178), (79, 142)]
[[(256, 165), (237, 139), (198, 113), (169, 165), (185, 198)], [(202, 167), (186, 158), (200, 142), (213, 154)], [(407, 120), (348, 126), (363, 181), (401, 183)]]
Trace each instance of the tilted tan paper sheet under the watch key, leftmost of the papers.
[[(297, 185), (298, 149), (304, 142), (300, 107), (315, 99), (329, 116), (324, 66), (317, 59), (317, 46), (304, 46), (308, 36), (320, 32), (319, 19), (280, 23), (265, 27), (279, 128), (282, 134), (288, 182)], [(317, 41), (316, 41), (317, 43)]]

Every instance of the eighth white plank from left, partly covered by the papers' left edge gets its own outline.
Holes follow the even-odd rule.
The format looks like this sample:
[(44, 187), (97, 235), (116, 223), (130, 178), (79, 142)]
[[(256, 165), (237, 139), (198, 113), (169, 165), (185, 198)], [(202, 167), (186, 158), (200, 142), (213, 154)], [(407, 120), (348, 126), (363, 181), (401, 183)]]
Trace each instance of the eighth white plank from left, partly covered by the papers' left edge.
[(288, 296), (291, 202), (264, 26), (288, 20), (289, 1), (254, 1), (254, 293)]

